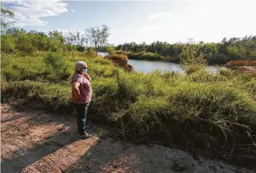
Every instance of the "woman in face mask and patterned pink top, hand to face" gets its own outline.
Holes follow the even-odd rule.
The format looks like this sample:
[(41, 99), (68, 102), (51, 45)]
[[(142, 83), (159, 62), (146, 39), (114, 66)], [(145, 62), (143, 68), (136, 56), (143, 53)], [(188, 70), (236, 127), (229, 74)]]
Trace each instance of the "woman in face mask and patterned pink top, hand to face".
[(75, 65), (75, 73), (72, 78), (71, 102), (77, 112), (77, 135), (81, 138), (90, 137), (86, 133), (86, 115), (90, 100), (92, 98), (91, 78), (87, 74), (88, 66), (84, 61), (79, 61)]

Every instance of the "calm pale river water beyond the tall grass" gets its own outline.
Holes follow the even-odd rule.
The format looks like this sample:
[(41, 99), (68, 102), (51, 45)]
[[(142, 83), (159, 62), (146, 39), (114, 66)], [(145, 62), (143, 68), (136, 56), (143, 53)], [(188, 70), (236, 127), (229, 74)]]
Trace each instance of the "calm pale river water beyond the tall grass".
[[(98, 52), (98, 54), (102, 56), (107, 55), (105, 52)], [(144, 61), (135, 59), (129, 59), (128, 63), (131, 64), (131, 66), (133, 66), (137, 72), (150, 73), (156, 69), (161, 72), (184, 72), (179, 63), (170, 63), (164, 61)], [(218, 71), (218, 67), (216, 66), (208, 66), (207, 69), (212, 73), (216, 73)]]

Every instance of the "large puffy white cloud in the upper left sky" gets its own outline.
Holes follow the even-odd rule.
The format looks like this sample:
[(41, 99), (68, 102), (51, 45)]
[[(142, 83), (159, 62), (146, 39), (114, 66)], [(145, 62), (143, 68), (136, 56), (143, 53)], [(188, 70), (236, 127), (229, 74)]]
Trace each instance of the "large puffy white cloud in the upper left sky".
[(67, 3), (61, 1), (5, 1), (10, 3), (10, 8), (14, 10), (16, 27), (31, 25), (45, 26), (47, 21), (42, 17), (58, 16), (63, 12), (68, 12)]

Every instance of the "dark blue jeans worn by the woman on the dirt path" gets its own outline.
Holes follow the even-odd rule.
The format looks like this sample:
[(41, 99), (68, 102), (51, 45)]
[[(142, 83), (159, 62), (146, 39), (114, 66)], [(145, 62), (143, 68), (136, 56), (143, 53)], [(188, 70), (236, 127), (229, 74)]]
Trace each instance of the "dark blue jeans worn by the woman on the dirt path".
[(86, 133), (86, 116), (89, 104), (74, 104), (77, 112), (77, 131), (79, 135)]

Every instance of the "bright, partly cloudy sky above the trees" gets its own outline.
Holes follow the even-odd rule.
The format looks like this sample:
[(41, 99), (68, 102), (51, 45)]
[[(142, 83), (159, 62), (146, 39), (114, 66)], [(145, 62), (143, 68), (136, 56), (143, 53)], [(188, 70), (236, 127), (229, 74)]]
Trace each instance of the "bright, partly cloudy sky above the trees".
[(4, 1), (14, 27), (27, 31), (84, 32), (107, 25), (110, 44), (188, 39), (220, 42), (256, 35), (256, 1)]

